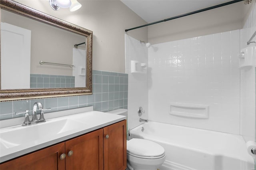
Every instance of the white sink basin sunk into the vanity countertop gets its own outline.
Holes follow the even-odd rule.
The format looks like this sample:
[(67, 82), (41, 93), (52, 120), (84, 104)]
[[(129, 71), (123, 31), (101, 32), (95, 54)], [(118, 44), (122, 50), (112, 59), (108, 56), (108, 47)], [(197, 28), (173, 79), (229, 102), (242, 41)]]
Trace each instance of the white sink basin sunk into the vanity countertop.
[[(55, 135), (84, 128), (86, 124), (71, 119), (50, 120), (46, 123), (39, 123), (27, 127), (14, 127), (6, 132), (0, 132), (0, 148), (12, 148), (28, 142), (38, 142), (44, 138), (51, 138)], [(15, 136), (15, 137), (14, 137)]]

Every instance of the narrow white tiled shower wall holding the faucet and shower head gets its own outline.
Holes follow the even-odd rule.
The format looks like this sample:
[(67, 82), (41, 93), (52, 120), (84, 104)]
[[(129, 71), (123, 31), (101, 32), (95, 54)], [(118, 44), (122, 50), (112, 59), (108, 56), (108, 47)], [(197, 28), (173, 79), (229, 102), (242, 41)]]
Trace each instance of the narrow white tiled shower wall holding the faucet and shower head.
[[(148, 72), (131, 73), (131, 61), (148, 64), (148, 48), (125, 34), (126, 73), (128, 74), (128, 128), (132, 129), (142, 124), (139, 119), (148, 119)], [(148, 68), (146, 68), (148, 69)], [(145, 113), (138, 116), (138, 108), (143, 107)]]

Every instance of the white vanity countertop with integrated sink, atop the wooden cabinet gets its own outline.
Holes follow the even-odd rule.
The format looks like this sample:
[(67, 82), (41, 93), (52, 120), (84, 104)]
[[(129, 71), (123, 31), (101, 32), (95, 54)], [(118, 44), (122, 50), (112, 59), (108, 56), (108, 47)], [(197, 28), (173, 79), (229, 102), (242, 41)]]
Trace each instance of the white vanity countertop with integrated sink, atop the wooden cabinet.
[[(121, 115), (88, 111), (46, 119), (45, 123), (38, 125), (22, 127), (20, 124), (0, 128), (0, 162), (16, 158), (125, 119), (126, 117)], [(66, 127), (58, 127), (58, 125), (62, 126), (63, 123)], [(48, 127), (52, 127), (52, 125), (54, 125), (53, 128), (48, 129)], [(22, 130), (24, 134), (15, 135), (14, 132), (17, 129)]]

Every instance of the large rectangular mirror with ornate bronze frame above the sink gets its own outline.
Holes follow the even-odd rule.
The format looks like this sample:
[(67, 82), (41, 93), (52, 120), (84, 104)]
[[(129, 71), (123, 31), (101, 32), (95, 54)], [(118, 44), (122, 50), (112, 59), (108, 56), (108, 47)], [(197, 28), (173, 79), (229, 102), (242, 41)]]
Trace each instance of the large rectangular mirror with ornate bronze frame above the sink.
[(92, 94), (92, 31), (0, 0), (0, 101)]

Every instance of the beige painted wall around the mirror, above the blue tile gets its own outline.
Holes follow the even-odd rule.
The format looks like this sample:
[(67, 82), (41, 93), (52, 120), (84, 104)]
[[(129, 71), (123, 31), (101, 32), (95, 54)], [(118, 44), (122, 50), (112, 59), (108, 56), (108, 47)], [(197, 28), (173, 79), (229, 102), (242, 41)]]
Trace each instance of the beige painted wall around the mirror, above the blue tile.
[[(82, 7), (75, 12), (70, 12), (68, 8), (54, 11), (46, 0), (18, 0), (18, 2), (91, 30), (93, 32), (92, 69), (94, 70), (124, 73), (124, 30), (146, 24), (119, 0), (80, 0)], [(128, 35), (147, 41), (148, 29), (129, 31)]]

